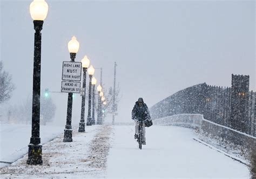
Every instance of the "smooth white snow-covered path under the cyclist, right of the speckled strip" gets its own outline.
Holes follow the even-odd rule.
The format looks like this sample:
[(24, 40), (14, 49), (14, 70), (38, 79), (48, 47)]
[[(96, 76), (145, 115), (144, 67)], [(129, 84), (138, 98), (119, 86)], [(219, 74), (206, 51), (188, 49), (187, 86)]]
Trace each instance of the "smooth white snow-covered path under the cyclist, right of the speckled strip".
[(190, 129), (146, 128), (142, 150), (133, 135), (133, 126), (114, 127), (107, 178), (250, 178), (244, 164), (194, 141)]

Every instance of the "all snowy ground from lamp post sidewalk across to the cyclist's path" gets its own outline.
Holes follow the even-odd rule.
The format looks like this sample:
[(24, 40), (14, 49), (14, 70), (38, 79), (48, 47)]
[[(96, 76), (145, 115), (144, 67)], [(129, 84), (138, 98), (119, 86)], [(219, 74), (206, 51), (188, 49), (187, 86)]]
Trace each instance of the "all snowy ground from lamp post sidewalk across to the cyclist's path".
[(138, 149), (134, 126), (90, 126), (43, 145), (43, 166), (22, 159), (0, 169), (0, 177), (68, 178), (250, 178), (247, 167), (201, 144), (193, 130), (175, 126), (146, 129)]

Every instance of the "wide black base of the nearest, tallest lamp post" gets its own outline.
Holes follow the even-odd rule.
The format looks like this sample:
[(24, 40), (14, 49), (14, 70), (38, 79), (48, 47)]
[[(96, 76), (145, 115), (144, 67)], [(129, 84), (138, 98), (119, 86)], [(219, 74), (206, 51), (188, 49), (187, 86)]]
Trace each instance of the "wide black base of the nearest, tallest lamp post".
[(29, 144), (28, 160), (27, 164), (43, 164), (42, 161), (42, 144), (34, 145)]

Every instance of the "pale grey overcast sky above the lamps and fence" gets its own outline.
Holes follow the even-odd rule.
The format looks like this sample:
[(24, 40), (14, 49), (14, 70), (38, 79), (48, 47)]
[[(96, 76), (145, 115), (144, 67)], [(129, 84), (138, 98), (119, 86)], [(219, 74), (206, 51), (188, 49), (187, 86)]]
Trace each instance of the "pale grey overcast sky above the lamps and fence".
[[(134, 102), (148, 106), (192, 85), (231, 86), (231, 74), (250, 75), (255, 91), (254, 1), (46, 1), (42, 30), (41, 89), (60, 91), (67, 44), (80, 43), (76, 61), (86, 54), (103, 68), (103, 84), (117, 84), (122, 99), (118, 121), (129, 121)], [(1, 60), (16, 90), (8, 105), (32, 96), (33, 22), (31, 1), (1, 0)], [(95, 76), (99, 80), (99, 70)], [(51, 94), (57, 121), (65, 125), (68, 94)], [(81, 97), (74, 99), (79, 121)], [(86, 102), (87, 105), (87, 102)], [(86, 112), (87, 114), (87, 112)]]

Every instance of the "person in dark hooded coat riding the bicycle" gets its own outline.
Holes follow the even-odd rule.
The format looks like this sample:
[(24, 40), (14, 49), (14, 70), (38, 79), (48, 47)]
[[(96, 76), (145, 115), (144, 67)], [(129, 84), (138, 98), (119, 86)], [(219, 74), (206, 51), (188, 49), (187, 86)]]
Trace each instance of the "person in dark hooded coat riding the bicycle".
[[(138, 101), (135, 102), (135, 105), (132, 109), (132, 120), (134, 120), (135, 124), (135, 135), (134, 139), (137, 139), (139, 136), (139, 121), (151, 120), (149, 108), (144, 103), (143, 98), (139, 98)], [(145, 123), (143, 122), (143, 139), (142, 144), (146, 144), (146, 131), (145, 131)]]

